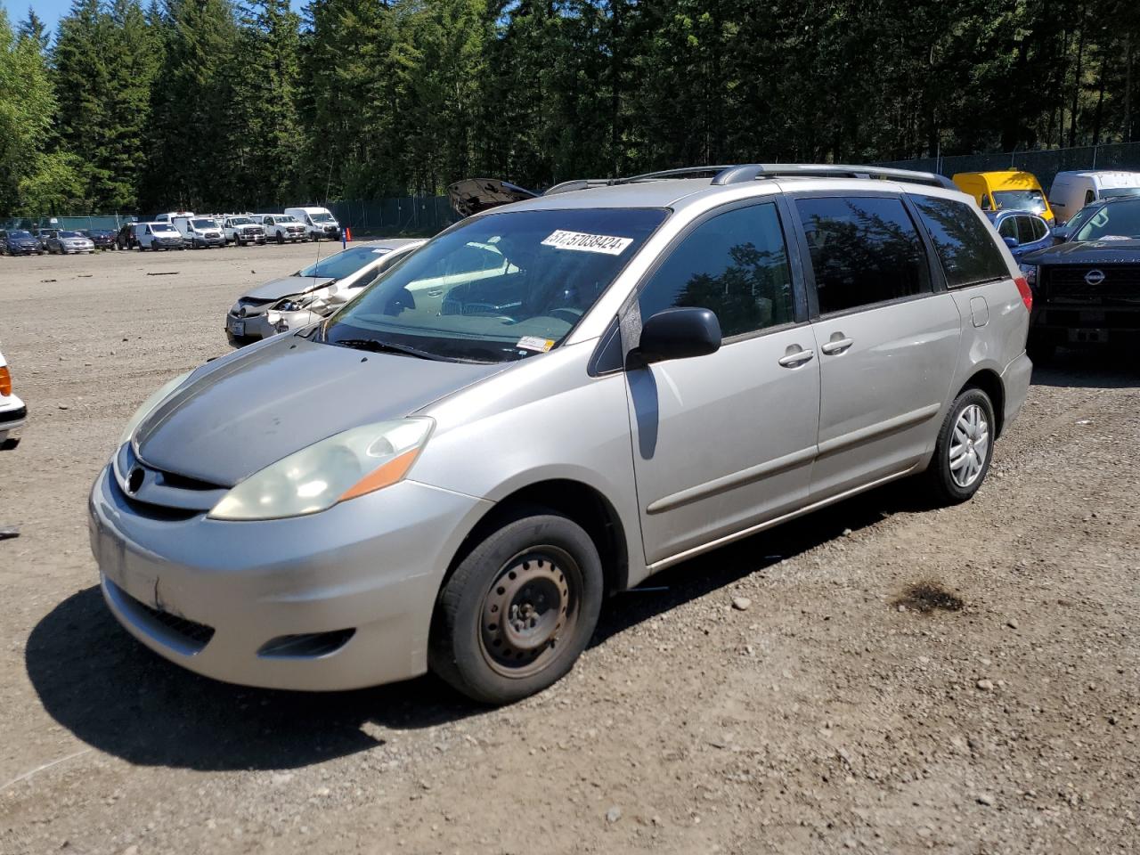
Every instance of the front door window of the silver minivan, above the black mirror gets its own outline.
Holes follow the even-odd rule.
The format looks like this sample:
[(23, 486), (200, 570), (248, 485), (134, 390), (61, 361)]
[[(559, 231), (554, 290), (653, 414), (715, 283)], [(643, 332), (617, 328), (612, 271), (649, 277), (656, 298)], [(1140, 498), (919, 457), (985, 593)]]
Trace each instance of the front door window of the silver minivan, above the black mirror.
[(675, 306), (711, 309), (725, 339), (795, 320), (774, 204), (726, 211), (685, 237), (638, 296), (643, 323)]

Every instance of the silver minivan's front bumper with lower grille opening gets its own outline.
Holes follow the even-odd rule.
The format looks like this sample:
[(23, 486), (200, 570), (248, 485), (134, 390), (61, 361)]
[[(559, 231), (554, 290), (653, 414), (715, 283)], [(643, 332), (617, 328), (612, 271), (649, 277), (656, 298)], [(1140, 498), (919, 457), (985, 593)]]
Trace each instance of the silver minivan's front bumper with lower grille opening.
[[(427, 669), (443, 573), (489, 506), (402, 481), (290, 520), (171, 520), (128, 499), (107, 466), (89, 528), (107, 605), (146, 646), (229, 683), (326, 691)], [(260, 652), (282, 636), (348, 629), (319, 656)]]

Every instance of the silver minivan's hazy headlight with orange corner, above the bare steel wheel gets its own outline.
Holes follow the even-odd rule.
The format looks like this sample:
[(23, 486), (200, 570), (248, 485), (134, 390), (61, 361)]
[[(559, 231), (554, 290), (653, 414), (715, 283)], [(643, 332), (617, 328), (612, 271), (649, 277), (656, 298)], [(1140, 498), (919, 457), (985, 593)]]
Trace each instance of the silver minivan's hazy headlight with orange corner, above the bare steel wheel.
[(412, 417), (337, 433), (251, 475), (214, 505), (215, 520), (278, 520), (326, 511), (404, 479), (434, 422)]

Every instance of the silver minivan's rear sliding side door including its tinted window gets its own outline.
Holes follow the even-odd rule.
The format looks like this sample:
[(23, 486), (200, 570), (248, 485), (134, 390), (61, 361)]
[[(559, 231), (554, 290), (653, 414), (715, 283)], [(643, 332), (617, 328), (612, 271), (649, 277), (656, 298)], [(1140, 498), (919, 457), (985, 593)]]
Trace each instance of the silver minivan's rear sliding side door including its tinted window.
[(822, 499), (907, 471), (929, 450), (958, 365), (962, 319), (935, 288), (897, 195), (795, 201), (814, 282)]

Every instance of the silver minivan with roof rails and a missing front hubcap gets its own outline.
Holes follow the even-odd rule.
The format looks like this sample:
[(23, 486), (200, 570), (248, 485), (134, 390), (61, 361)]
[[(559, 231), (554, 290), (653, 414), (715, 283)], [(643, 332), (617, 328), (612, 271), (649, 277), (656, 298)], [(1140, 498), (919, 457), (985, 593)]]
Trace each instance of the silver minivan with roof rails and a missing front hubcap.
[(130, 633), (235, 683), (431, 669), (510, 702), (570, 670), (608, 593), (895, 479), (982, 484), (1031, 293), (946, 179), (553, 190), (142, 405), (90, 498)]

